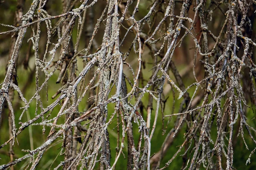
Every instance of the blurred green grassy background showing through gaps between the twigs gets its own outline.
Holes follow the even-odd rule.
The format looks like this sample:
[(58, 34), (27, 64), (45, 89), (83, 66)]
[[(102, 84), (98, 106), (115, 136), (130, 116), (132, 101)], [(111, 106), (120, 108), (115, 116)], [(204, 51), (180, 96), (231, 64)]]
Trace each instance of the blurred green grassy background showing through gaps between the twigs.
[[(208, 0), (209, 1), (209, 0)], [(207, 2), (208, 2), (207, 1)], [(12, 25), (13, 24), (13, 19), (14, 19), (14, 13), (16, 10), (16, 0), (5, 0), (5, 1), (1, 1), (0, 3), (0, 23), (3, 24), (9, 24)], [(32, 0), (26, 0), (26, 4), (25, 4), (25, 8), (24, 11), (27, 11), (30, 4), (32, 3)], [(142, 3), (140, 3), (140, 8), (139, 8), (139, 13), (137, 14), (138, 18), (141, 18), (143, 16), (145, 16), (145, 14), (147, 13), (147, 7), (148, 7), (148, 1), (143, 1)], [(96, 3), (95, 6), (93, 6), (93, 14), (94, 14), (94, 25), (96, 24), (96, 19), (99, 18), (102, 10), (105, 7), (105, 1), (103, 0), (99, 0), (98, 3)], [(136, 3), (134, 3), (136, 4)], [(77, 3), (76, 7), (80, 6), (79, 3)], [(177, 4), (177, 13), (180, 10), (180, 5)], [(61, 6), (61, 0), (54, 0), (54, 1), (48, 1), (47, 2), (47, 11), (50, 15), (55, 16), (58, 14), (61, 14), (62, 11), (62, 6)], [(216, 20), (216, 22), (222, 22), (222, 19), (220, 18), (216, 18), (213, 17), (213, 20)], [(53, 24), (52, 26), (54, 26), (54, 24), (56, 23), (57, 20), (53, 20)], [(255, 26), (254, 26), (255, 27)], [(4, 26), (0, 26), (0, 32), (3, 31), (8, 31), (10, 30), (10, 28), (4, 27)], [(45, 25), (44, 23), (42, 23), (42, 30), (45, 30)], [(121, 30), (122, 31), (122, 30)], [(98, 42), (98, 44), (100, 44), (102, 42), (101, 37), (103, 35), (104, 32), (104, 27), (101, 26), (100, 30), (98, 31), (99, 33), (96, 35), (96, 42)], [(218, 29), (216, 29), (216, 32), (218, 32)], [(77, 34), (77, 23), (76, 26), (74, 28), (73, 31), (73, 42), (76, 42), (76, 34)], [(84, 28), (84, 34), (87, 34), (86, 32), (86, 25)], [(123, 34), (125, 34), (125, 31), (122, 32), (122, 36)], [(130, 34), (130, 33), (129, 33)], [(12, 34), (4, 34), (4, 35), (0, 35), (0, 83), (3, 82), (3, 79), (5, 77), (5, 73), (6, 73), (6, 63), (7, 61), (7, 56), (8, 56), (8, 52), (9, 52), (9, 44), (10, 44), (10, 39), (11, 39), (11, 35)], [(127, 39), (125, 39), (125, 43), (122, 46), (121, 50), (125, 51), (125, 49), (127, 49), (130, 45), (131, 42), (133, 41), (134, 35), (131, 33), (132, 36), (128, 36)], [(20, 50), (20, 54), (19, 54), (19, 58), (18, 58), (18, 68), (17, 68), (17, 76), (18, 76), (18, 85), (20, 87), (20, 89), (22, 89), (22, 92), (25, 96), (25, 98), (27, 100), (29, 100), (34, 94), (35, 94), (35, 75), (33, 74), (33, 69), (34, 69), (34, 65), (35, 65), (35, 58), (31, 57), (29, 60), (29, 68), (26, 70), (24, 69), (22, 62), (24, 57), (26, 56), (26, 53), (28, 50), (31, 50), (31, 55), (33, 55), (33, 50), (32, 49), (28, 49), (27, 48), (27, 40), (29, 39), (29, 37), (31, 36), (31, 28), (28, 29), (26, 36), (23, 40), (23, 45), (22, 48)], [(42, 31), (42, 37), (46, 37), (46, 34)], [(86, 38), (82, 37), (81, 42), (80, 42), (80, 47), (79, 50), (83, 49), (86, 47)], [(45, 39), (42, 38), (42, 40), (40, 40), (42, 45), (42, 48), (44, 49), (44, 42)], [(184, 46), (186, 46), (185, 48), (190, 48), (192, 47), (192, 45), (194, 44), (189, 44), (191, 42), (190, 38), (186, 38), (184, 43)], [(189, 51), (189, 50), (188, 50)], [(44, 52), (44, 50), (40, 51), (41, 54)], [(176, 55), (174, 57), (174, 61), (177, 63), (177, 68), (179, 71), (183, 71), (184, 68), (186, 68), (186, 55), (184, 53), (186, 53), (186, 51), (184, 51), (184, 48), (182, 47), (182, 49), (180, 49), (180, 51), (175, 51), (176, 54), (179, 54), (180, 56)], [(193, 51), (190, 50), (190, 52), (188, 52), (187, 55), (189, 55), (190, 57), (188, 57), (189, 59), (192, 59), (193, 56)], [(134, 54), (134, 52), (132, 52), (130, 54), (130, 56), (132, 55), (136, 55)], [(185, 57), (184, 57), (185, 56)], [(143, 77), (144, 79), (148, 79), (151, 76), (151, 71), (150, 68), (152, 67), (152, 59), (151, 59), (151, 55), (149, 54), (149, 51), (146, 51), (143, 53), (143, 61), (145, 61), (145, 68), (143, 68)], [(134, 58), (132, 57), (128, 57), (128, 62), (133, 62)], [(82, 59), (78, 59), (78, 69), (79, 71), (81, 71), (83, 68), (83, 62)], [(128, 68), (124, 68), (124, 72), (129, 74)], [(46, 90), (44, 88), (44, 90), (42, 90), (40, 92), (40, 96), (41, 99), (43, 101), (43, 105), (44, 107), (46, 107), (47, 105), (50, 105), (52, 102), (55, 101), (55, 99), (51, 99), (51, 96), (54, 95), (56, 93), (56, 91), (61, 88), (60, 84), (56, 84), (56, 79), (58, 77), (58, 73), (59, 71), (56, 71), (55, 74), (49, 79), (48, 82), (48, 95), (49, 95), (49, 101), (47, 102), (46, 99)], [(204, 75), (203, 73), (201, 73), (202, 75)], [(171, 72), (169, 72), (169, 75), (172, 79), (175, 79), (172, 75)], [(131, 75), (129, 74), (129, 77), (131, 77)], [(42, 82), (44, 82), (44, 74), (40, 73), (40, 81), (39, 84), (41, 84)], [(87, 77), (87, 82), (90, 80), (90, 77)], [(188, 75), (188, 78), (183, 79), (185, 86), (187, 87), (188, 85), (192, 84), (193, 82), (195, 82), (195, 79), (193, 78), (192, 74)], [(131, 87), (129, 85), (128, 86), (128, 91), (131, 90)], [(195, 90), (195, 87), (189, 89), (189, 94), (190, 97), (192, 96), (193, 92)], [(113, 92), (114, 94), (114, 92)], [(111, 95), (111, 94), (110, 94)], [(13, 106), (15, 108), (15, 123), (16, 123), (16, 127), (19, 127), (20, 125), (18, 124), (18, 122), (26, 122), (29, 117), (30, 119), (33, 118), (35, 116), (35, 100), (32, 102), (32, 104), (29, 107), (29, 110), (26, 112), (26, 114), (23, 115), (21, 121), (18, 120), (22, 110), (20, 110), (20, 107), (23, 107), (24, 104), (23, 102), (20, 101), (20, 99), (18, 99), (17, 97), (17, 92), (15, 91), (15, 99), (13, 101)], [(167, 98), (167, 96), (169, 96), (169, 99), (166, 102), (166, 108), (165, 108), (165, 115), (171, 114), (171, 110), (172, 110), (172, 105), (173, 105), (173, 97), (172, 97), (172, 92), (171, 90), (169, 90), (166, 93), (165, 98)], [(177, 97), (178, 94), (176, 93), (175, 96)], [(79, 111), (84, 111), (84, 109), (87, 107), (87, 99), (88, 96), (86, 96), (81, 104), (79, 105)], [(182, 101), (182, 99), (175, 101), (175, 111), (174, 113), (178, 113), (179, 107), (180, 107), (180, 102)], [(134, 101), (132, 101), (134, 102)], [(148, 103), (148, 94), (145, 94), (145, 96), (142, 99), (142, 102), (145, 103), (144, 105), (147, 106)], [(248, 103), (250, 104), (250, 103)], [(253, 106), (254, 107), (254, 106)], [(51, 116), (49, 116), (48, 119), (51, 119), (52, 117), (54, 117), (59, 109), (61, 108), (61, 105), (57, 105), (52, 113)], [(153, 105), (153, 114), (152, 114), (152, 119), (151, 119), (151, 124), (153, 124), (154, 122), (154, 112), (155, 112), (155, 108), (156, 108), (156, 103), (154, 102)], [(114, 109), (114, 105), (108, 105), (108, 115), (110, 117), (111, 113), (113, 113)], [(40, 109), (38, 110), (38, 113), (40, 113)], [(48, 114), (48, 113), (47, 113)], [(47, 115), (46, 114), (46, 115)], [(144, 112), (142, 113), (144, 118), (146, 118), (146, 111), (144, 110)], [(202, 112), (203, 114), (203, 112)], [(256, 128), (256, 124), (255, 124), (255, 116), (253, 113), (253, 109), (250, 108), (247, 110), (247, 122), (249, 123), (250, 126)], [(165, 119), (165, 125), (167, 123), (169, 118)], [(175, 122), (176, 116), (172, 117), (170, 124), (167, 127), (166, 133), (164, 135), (162, 135), (162, 118), (161, 118), (161, 113), (159, 112), (158, 114), (158, 119), (157, 119), (157, 126), (156, 126), (156, 130), (154, 133), (154, 136), (151, 140), (151, 155), (153, 155), (154, 153), (157, 153), (160, 148), (161, 148), (161, 144), (163, 143), (167, 133), (169, 132), (169, 130), (171, 130), (174, 127), (174, 122)], [(40, 122), (41, 119), (39, 119), (37, 122)], [(64, 122), (64, 116), (61, 117), (61, 119), (58, 120), (58, 123), (63, 123)], [(235, 143), (233, 143), (233, 150), (234, 150), (234, 160), (233, 160), (233, 167), (240, 170), (240, 169), (244, 169), (244, 170), (253, 170), (256, 168), (256, 156), (255, 154), (253, 154), (251, 156), (251, 162), (250, 164), (248, 164), (247, 166), (245, 165), (246, 160), (248, 159), (248, 156), (250, 155), (250, 152), (256, 147), (255, 143), (250, 139), (250, 137), (248, 136), (248, 133), (246, 130), (245, 134), (244, 134), (244, 138), (245, 141), (248, 145), (249, 150), (246, 150), (245, 145), (243, 140), (241, 139), (241, 135), (240, 136), (236, 136), (236, 134), (238, 133), (239, 130), (239, 121), (236, 123), (236, 125), (234, 126), (234, 141)], [(115, 155), (116, 155), (116, 139), (117, 139), (117, 133), (116, 133), (116, 128), (113, 129), (114, 127), (116, 127), (116, 118), (113, 119), (113, 122), (109, 125), (108, 127), (108, 132), (110, 135), (110, 144), (111, 144), (111, 164), (113, 164), (113, 161), (115, 159)], [(120, 132), (122, 130), (121, 128), (122, 126), (120, 126)], [(44, 143), (47, 135), (49, 134), (49, 127), (46, 127), (46, 132), (45, 134), (42, 134), (42, 126), (32, 126), (32, 128), (30, 130), (32, 130), (32, 136), (29, 135), (29, 127), (26, 128), (25, 130), (23, 130), (22, 133), (20, 133), (17, 136), (17, 141), (15, 141), (15, 146), (14, 146), (14, 153), (15, 153), (15, 159), (20, 158), (21, 156), (24, 156), (26, 153), (22, 151), (23, 150), (30, 150), (31, 148), (37, 148), (39, 146), (41, 146), (41, 144)], [(135, 145), (137, 146), (138, 143), (138, 139), (139, 139), (139, 133), (138, 133), (138, 127), (137, 124), (134, 124), (134, 141), (135, 141)], [(172, 158), (172, 156), (177, 152), (179, 146), (183, 143), (184, 141), (184, 133), (186, 133), (186, 125), (184, 124), (181, 131), (178, 133), (178, 135), (175, 137), (175, 140), (172, 144), (172, 146), (169, 148), (166, 156), (164, 156), (163, 160), (161, 161), (161, 166), (163, 167), (165, 165), (166, 162), (169, 161), (169, 159)], [(253, 136), (255, 136), (255, 132), (253, 132)], [(217, 137), (217, 130), (216, 130), (216, 122), (213, 123), (213, 127), (211, 130), (211, 134), (212, 134), (212, 140), (215, 142), (215, 139)], [(84, 136), (85, 133), (81, 133), (81, 136)], [(2, 119), (1, 119), (1, 127), (0, 127), (0, 144), (3, 144), (4, 142), (6, 142), (9, 139), (9, 125), (8, 125), (8, 108), (4, 109), (3, 115), (2, 115)], [(31, 141), (31, 139), (33, 139), (33, 141)], [(123, 149), (123, 152), (125, 154), (125, 156), (127, 156), (127, 142), (126, 142), (125, 138), (125, 148)], [(121, 140), (121, 138), (120, 138)], [(61, 161), (64, 160), (64, 155), (60, 155), (61, 152), (61, 144), (62, 144), (62, 140), (59, 138), (57, 140), (55, 140), (55, 142), (52, 143), (52, 145), (47, 149), (47, 151), (44, 153), (44, 156), (42, 157), (40, 163), (38, 164), (38, 169), (40, 170), (45, 170), (45, 169), (53, 169), (54, 167), (56, 167)], [(213, 147), (213, 145), (212, 145)], [(182, 155), (184, 153), (184, 148), (182, 149), (182, 151), (178, 154), (178, 156), (174, 159), (174, 161), (170, 164), (170, 166), (166, 169), (169, 170), (180, 170), (182, 164), (183, 164), (183, 158)], [(35, 157), (34, 157), (35, 159)], [(0, 149), (0, 164), (6, 164), (10, 161), (10, 157), (9, 157), (9, 144), (7, 144), (5, 147), (3, 147), (2, 149)], [(26, 165), (28, 164), (29, 159), (27, 159), (26, 161), (22, 161), (20, 163), (18, 163), (17, 165), (14, 166), (14, 169), (19, 170), (22, 167), (26, 167)], [(126, 164), (127, 164), (127, 160), (124, 158), (124, 156), (120, 156), (119, 161), (116, 164), (116, 170), (122, 170), (122, 169), (126, 169)], [(97, 169), (98, 167), (96, 167)]]

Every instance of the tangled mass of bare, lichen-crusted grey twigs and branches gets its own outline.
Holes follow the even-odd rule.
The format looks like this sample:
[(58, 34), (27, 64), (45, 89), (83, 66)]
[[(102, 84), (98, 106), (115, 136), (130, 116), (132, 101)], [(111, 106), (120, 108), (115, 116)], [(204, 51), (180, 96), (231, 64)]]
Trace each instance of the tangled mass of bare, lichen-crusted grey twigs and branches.
[[(250, 108), (248, 105), (256, 104), (256, 65), (253, 58), (256, 43), (252, 30), (255, 1), (63, 0), (62, 14), (58, 16), (48, 14), (45, 7), (47, 0), (33, 0), (26, 14), (23, 14), (24, 0), (17, 0), (17, 3), (15, 26), (3, 25), (11, 30), (0, 33), (12, 34), (6, 77), (0, 90), (0, 119), (7, 104), (10, 128), (10, 139), (1, 148), (9, 144), (11, 161), (2, 164), (0, 169), (12, 167), (26, 159), (30, 160), (27, 168), (35, 169), (44, 157), (44, 152), (56, 139), (62, 140), (64, 160), (55, 169), (63, 166), (64, 169), (80, 167), (88, 170), (96, 166), (100, 169), (119, 169), (116, 163), (123, 154), (125, 141), (128, 143), (129, 170), (164, 169), (182, 150), (185, 150), (182, 154), (184, 162), (180, 165), (183, 169), (204, 167), (230, 170), (234, 168), (233, 136), (240, 135), (247, 149), (245, 135), (250, 136), (256, 144), (256, 130), (246, 122), (246, 113)], [(100, 3), (106, 5), (93, 28), (92, 8)], [(141, 6), (148, 7), (144, 8), (143, 17)], [(218, 25), (217, 35), (214, 35), (217, 31), (212, 29), (212, 17)], [(58, 20), (55, 25), (54, 20)], [(41, 26), (41, 23), (44, 25)], [(76, 26), (77, 34), (74, 35)], [(86, 36), (83, 34), (84, 28), (87, 29)], [(104, 28), (104, 34), (101, 45), (98, 45), (99, 41), (95, 37), (100, 35), (100, 28)], [(28, 53), (24, 62), (27, 66), (29, 58), (35, 57), (36, 92), (32, 98), (25, 99), (24, 92), (17, 84), (16, 66), (21, 45), (27, 43), (23, 42), (23, 38), (28, 29), (32, 30), (29, 48), (33, 48), (35, 53)], [(46, 31), (47, 37), (41, 35), (43, 31)], [(133, 41), (127, 46), (125, 39), (131, 36), (134, 36)], [(191, 49), (194, 59), (180, 74), (175, 66), (174, 55), (185, 43), (186, 37), (194, 43), (191, 45), (194, 47)], [(41, 48), (39, 40), (43, 38), (47, 40), (45, 47)], [(79, 51), (81, 39), (86, 39), (87, 48)], [(76, 42), (73, 43), (73, 40)], [(123, 48), (124, 45), (126, 48)], [(145, 54), (148, 51), (150, 53)], [(79, 58), (84, 62), (81, 71), (77, 66)], [(152, 61), (151, 77), (145, 79), (143, 66), (149, 58)], [(198, 62), (203, 67), (198, 66)], [(45, 107), (40, 92), (48, 88), (49, 79), (58, 70), (56, 82), (61, 83), (62, 87), (52, 98), (59, 96)], [(190, 71), (194, 75), (190, 79), (195, 83), (186, 87), (183, 80), (189, 77)], [(45, 75), (42, 84), (39, 83), (41, 72)], [(199, 77), (198, 74), (203, 76)], [(89, 82), (85, 81), (86, 77), (90, 77)], [(195, 87), (195, 91), (189, 94), (188, 90), (192, 87)], [(174, 96), (173, 103), (181, 101), (178, 113), (174, 113), (174, 107), (171, 111), (165, 110), (168, 101), (165, 96), (169, 94), (169, 90), (165, 92), (166, 88)], [(37, 114), (27, 122), (20, 122), (19, 127), (15, 126), (18, 120), (12, 105), (14, 91), (17, 91), (19, 100), (25, 105), (20, 108), (22, 114), (19, 121), (32, 101), (36, 101)], [(145, 94), (149, 96), (148, 102)], [(78, 106), (84, 98), (88, 102), (85, 111), (81, 112)], [(60, 102), (61, 109), (53, 116), (52, 110)], [(113, 113), (107, 107), (113, 106), (111, 103), (115, 105)], [(154, 110), (153, 104), (156, 105)], [(49, 119), (49, 116), (53, 118)], [(61, 116), (65, 117), (63, 124), (58, 122)], [(173, 116), (175, 124), (172, 125), (170, 118)], [(159, 117), (162, 117), (162, 125), (157, 123)], [(107, 128), (114, 119), (117, 122), (118, 138), (116, 157), (111, 158), (111, 152), (115, 151), (110, 150)], [(41, 122), (38, 123), (38, 120)], [(238, 134), (234, 134), (236, 124), (239, 125)], [(27, 154), (14, 160), (15, 139), (32, 125), (42, 126), (43, 133), (45, 127), (51, 127), (47, 140), (40, 147), (24, 150)], [(119, 130), (119, 126), (122, 130)], [(139, 128), (137, 146), (134, 143), (137, 140), (134, 139), (134, 133), (137, 132), (133, 131), (133, 126)], [(163, 133), (166, 127), (172, 129), (167, 132), (161, 150), (153, 154), (151, 147), (154, 143), (151, 143), (151, 139), (156, 126), (162, 126)], [(184, 142), (176, 153), (167, 155), (170, 159), (161, 167), (163, 157), (182, 127), (186, 127)], [(213, 127), (217, 128), (215, 141), (212, 139)], [(84, 137), (79, 144), (81, 133)], [(247, 163), (255, 150), (252, 150)], [(36, 159), (33, 159), (35, 155)], [(114, 159), (112, 164), (111, 159)]]

